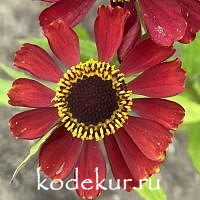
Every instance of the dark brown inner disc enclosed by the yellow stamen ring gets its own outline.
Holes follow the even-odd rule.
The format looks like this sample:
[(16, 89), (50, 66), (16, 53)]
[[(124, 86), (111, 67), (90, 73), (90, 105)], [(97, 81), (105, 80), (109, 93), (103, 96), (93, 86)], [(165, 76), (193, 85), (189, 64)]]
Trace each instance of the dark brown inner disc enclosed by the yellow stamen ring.
[(97, 75), (74, 84), (67, 101), (73, 117), (86, 125), (104, 122), (118, 109), (112, 81), (102, 80)]

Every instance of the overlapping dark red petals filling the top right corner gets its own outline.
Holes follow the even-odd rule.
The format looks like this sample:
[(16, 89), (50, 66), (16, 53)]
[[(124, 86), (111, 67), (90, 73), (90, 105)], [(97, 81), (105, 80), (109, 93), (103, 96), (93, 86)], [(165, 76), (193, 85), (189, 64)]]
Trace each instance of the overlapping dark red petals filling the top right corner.
[[(175, 41), (189, 43), (200, 30), (198, 0), (138, 1), (147, 31), (158, 44), (170, 46)], [(123, 6), (133, 2), (130, 0)]]

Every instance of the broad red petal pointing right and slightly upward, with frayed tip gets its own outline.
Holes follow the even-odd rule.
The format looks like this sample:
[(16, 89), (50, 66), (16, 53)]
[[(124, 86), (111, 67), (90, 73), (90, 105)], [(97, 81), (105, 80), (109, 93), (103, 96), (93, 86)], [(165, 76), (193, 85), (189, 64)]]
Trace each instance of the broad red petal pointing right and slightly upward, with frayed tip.
[(146, 70), (130, 82), (128, 88), (149, 97), (170, 97), (184, 90), (185, 77), (181, 62), (174, 60)]

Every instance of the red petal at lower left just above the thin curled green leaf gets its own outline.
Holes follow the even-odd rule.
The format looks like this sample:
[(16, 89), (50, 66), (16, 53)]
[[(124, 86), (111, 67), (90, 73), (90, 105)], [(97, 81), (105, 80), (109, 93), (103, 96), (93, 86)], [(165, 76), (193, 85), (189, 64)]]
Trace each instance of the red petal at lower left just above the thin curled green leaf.
[(37, 139), (59, 120), (56, 108), (39, 108), (21, 112), (9, 121), (12, 134), (20, 139)]

